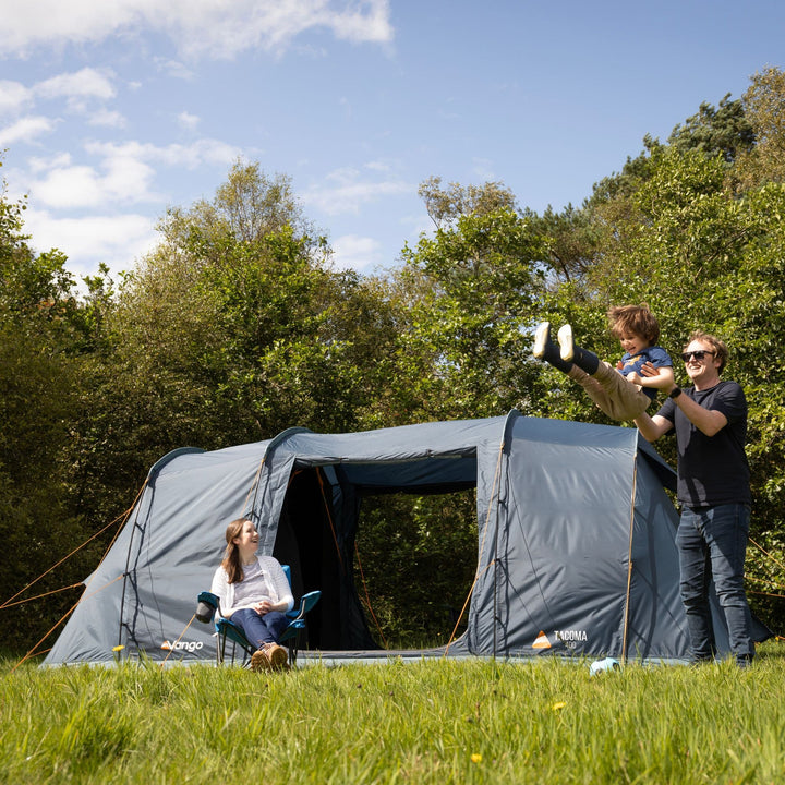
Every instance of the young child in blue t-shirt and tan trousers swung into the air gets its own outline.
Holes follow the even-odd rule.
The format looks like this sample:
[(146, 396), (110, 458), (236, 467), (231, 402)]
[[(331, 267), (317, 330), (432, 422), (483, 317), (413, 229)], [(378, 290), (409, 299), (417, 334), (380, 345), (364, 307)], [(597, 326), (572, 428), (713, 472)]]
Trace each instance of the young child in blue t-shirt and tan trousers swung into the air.
[[(656, 346), (660, 324), (648, 305), (614, 305), (607, 317), (625, 352), (618, 370), (576, 346), (568, 324), (558, 331), (559, 349), (551, 340), (551, 324), (543, 322), (534, 335), (533, 354), (575, 379), (612, 420), (635, 420), (649, 408), (657, 388), (673, 386), (673, 361)], [(654, 375), (641, 373), (647, 363), (656, 370)]]

